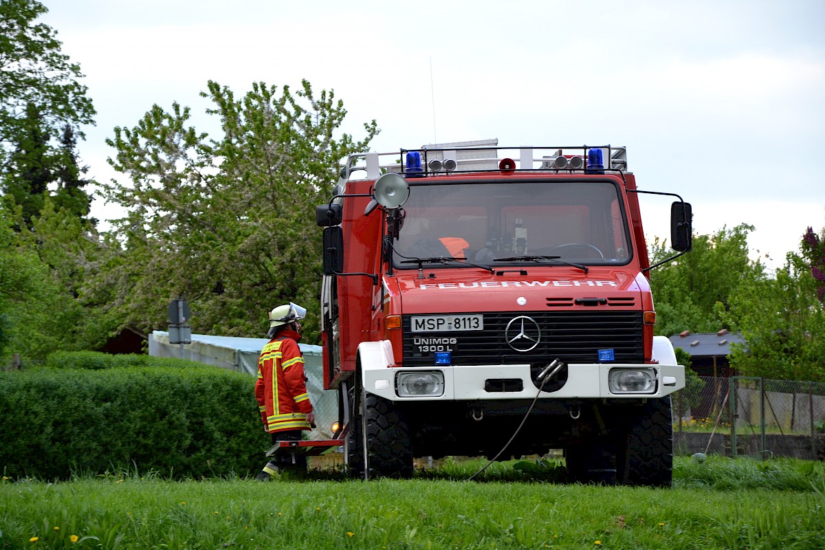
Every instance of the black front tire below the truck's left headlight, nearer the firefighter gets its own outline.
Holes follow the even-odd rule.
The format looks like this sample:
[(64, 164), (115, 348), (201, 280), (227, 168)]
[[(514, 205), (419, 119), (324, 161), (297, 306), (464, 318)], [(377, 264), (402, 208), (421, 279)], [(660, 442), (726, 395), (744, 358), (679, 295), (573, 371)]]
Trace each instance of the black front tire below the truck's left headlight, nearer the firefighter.
[(403, 415), (393, 402), (364, 393), (365, 479), (412, 477), (413, 445)]

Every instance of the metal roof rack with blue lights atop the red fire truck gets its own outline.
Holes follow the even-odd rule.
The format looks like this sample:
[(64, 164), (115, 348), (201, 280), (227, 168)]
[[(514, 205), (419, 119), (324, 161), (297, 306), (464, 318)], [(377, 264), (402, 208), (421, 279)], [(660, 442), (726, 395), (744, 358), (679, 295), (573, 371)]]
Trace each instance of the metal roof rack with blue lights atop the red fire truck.
[[(412, 154), (413, 164), (408, 158)], [(592, 154), (597, 161), (591, 162)], [(415, 159), (418, 159), (416, 162)], [(408, 177), (444, 176), (469, 172), (627, 172), (627, 149), (610, 145), (565, 147), (502, 147), (497, 139), (422, 145), (394, 153), (353, 153), (341, 170), (343, 181), (375, 179), (385, 172)], [(363, 177), (353, 172), (365, 171)], [(361, 176), (361, 174), (359, 174)]]

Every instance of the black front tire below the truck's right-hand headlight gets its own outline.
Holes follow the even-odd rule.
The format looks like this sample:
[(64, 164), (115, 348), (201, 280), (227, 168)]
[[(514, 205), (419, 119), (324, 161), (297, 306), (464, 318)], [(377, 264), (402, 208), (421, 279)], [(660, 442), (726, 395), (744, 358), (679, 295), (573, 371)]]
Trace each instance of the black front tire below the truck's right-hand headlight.
[(670, 396), (628, 407), (620, 426), (616, 477), (624, 485), (670, 487), (673, 481), (673, 423)]

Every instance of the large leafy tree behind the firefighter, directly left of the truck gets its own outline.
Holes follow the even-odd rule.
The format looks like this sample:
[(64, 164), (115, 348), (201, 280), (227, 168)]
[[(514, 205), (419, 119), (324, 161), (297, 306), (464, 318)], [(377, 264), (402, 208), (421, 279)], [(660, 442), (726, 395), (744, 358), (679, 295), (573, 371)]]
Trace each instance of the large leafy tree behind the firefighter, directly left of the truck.
[[(342, 101), (315, 96), (306, 81), (280, 95), (256, 82), (240, 99), (217, 82), (208, 90), (219, 139), (197, 133), (177, 103), (168, 112), (153, 106), (133, 129), (115, 128), (110, 162), (129, 183), (104, 194), (129, 214), (115, 222), (124, 250), (95, 289), (142, 331), (165, 326), (163, 304), (184, 296), (193, 331), (261, 336), (275, 305), (317, 301), (320, 190), (378, 130), (373, 121), (361, 142), (336, 138)], [(317, 318), (306, 330), (317, 341)]]

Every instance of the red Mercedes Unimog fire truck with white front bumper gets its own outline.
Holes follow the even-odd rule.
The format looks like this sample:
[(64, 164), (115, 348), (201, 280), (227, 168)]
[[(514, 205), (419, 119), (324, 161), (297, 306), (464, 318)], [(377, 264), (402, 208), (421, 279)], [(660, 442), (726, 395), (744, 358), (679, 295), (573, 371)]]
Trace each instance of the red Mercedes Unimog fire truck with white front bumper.
[[(353, 155), (318, 207), (349, 468), (564, 449), (573, 480), (669, 485), (685, 374), (653, 336), (625, 148), (466, 145)], [(684, 253), (690, 204), (672, 196)]]

